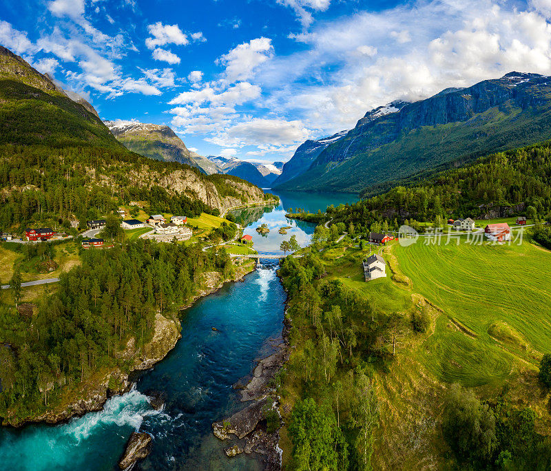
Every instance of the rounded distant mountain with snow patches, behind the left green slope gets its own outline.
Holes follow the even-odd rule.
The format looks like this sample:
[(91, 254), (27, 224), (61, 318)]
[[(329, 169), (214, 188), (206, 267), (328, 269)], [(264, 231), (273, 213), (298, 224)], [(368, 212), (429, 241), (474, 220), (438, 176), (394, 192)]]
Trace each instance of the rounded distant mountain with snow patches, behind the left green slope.
[(105, 125), (118, 141), (136, 154), (202, 169), (194, 153), (185, 147), (183, 140), (168, 126), (122, 120), (105, 121)]

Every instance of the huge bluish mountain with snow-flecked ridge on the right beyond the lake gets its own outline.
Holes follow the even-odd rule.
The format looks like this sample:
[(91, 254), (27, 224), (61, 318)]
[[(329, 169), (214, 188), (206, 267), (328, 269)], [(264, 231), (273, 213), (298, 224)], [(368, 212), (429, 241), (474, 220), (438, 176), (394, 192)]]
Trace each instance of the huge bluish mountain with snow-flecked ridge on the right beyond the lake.
[[(448, 88), (416, 103), (373, 109), (345, 136), (324, 147), (300, 178), (280, 177), (275, 185), (349, 192), (376, 185), (384, 191), (392, 182), (445, 169), (454, 161), (548, 140), (550, 123), (551, 79), (510, 72), (472, 87)], [(311, 145), (301, 147), (295, 155)], [(286, 168), (293, 159), (282, 176), (292, 175)]]

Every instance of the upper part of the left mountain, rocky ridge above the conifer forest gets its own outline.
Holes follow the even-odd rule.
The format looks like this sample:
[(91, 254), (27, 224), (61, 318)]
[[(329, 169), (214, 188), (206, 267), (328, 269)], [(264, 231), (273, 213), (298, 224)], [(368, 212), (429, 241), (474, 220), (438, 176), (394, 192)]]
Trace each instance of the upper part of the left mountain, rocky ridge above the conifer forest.
[(122, 148), (96, 114), (2, 46), (0, 129), (0, 143)]

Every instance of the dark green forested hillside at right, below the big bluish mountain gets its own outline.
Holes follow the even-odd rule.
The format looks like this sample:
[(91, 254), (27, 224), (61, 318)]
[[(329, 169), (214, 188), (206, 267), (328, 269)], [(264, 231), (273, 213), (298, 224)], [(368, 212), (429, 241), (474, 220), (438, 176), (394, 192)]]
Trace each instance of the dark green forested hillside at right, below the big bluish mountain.
[(530, 216), (549, 216), (551, 143), (493, 154), (353, 205), (330, 207), (328, 216), (337, 222), (372, 224), (387, 220), (397, 226), (404, 220), (441, 223), (448, 218), (483, 218), (494, 209), (512, 215), (529, 212)]

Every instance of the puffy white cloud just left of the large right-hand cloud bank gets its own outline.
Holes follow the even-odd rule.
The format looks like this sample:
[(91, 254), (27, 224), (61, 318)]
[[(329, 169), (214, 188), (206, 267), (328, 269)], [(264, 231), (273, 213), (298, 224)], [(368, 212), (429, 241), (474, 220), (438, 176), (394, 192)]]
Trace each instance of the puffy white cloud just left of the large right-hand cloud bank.
[(242, 43), (217, 59), (216, 63), (226, 67), (225, 76), (229, 82), (247, 80), (253, 70), (273, 55), (271, 39), (257, 38)]

